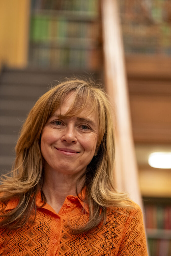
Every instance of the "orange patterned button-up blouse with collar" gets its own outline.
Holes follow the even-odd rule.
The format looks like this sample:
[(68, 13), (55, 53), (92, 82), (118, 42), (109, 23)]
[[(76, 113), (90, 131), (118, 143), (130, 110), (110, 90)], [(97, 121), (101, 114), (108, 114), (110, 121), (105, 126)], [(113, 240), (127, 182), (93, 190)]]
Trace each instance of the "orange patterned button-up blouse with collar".
[[(17, 200), (8, 204), (0, 203), (0, 212), (14, 209)], [(0, 229), (0, 255), (2, 256), (146, 256), (146, 240), (140, 207), (136, 209), (116, 208), (108, 211), (105, 226), (97, 234), (93, 230), (72, 235), (67, 220), (77, 225), (84, 203), (76, 196), (66, 197), (57, 214), (46, 204), (36, 211), (33, 225), (26, 224), (15, 230)], [(41, 206), (41, 194), (36, 197), (36, 205)], [(116, 212), (117, 210), (117, 212)], [(85, 223), (86, 214), (79, 223)]]

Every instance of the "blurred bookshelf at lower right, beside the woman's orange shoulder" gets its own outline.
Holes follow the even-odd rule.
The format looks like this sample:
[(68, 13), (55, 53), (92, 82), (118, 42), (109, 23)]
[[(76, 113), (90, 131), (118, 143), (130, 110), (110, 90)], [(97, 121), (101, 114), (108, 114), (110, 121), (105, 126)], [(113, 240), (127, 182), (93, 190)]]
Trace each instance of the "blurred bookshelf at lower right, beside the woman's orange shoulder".
[(171, 252), (170, 198), (144, 197), (146, 231), (151, 256), (169, 256)]

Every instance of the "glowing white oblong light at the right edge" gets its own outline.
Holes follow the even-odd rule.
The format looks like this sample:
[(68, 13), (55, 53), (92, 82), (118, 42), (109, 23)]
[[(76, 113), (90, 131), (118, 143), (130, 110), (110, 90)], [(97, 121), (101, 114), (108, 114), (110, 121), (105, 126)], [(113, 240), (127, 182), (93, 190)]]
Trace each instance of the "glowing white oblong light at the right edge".
[(154, 168), (171, 169), (171, 152), (151, 153), (148, 164)]

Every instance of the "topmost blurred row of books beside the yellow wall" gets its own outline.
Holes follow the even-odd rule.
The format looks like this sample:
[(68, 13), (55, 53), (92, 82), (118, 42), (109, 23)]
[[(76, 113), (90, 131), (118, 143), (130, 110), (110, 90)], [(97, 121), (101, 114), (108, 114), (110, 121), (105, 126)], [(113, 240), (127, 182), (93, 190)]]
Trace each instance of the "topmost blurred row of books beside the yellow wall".
[(53, 9), (94, 12), (98, 11), (99, 0), (32, 0), (32, 9)]

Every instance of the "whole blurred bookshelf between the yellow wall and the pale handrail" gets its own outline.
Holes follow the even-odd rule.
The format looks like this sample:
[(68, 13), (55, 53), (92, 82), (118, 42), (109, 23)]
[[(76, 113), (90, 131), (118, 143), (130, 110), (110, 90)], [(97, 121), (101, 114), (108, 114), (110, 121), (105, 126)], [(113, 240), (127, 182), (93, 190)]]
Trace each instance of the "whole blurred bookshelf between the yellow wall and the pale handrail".
[(98, 0), (32, 1), (28, 66), (99, 70), (99, 8)]

